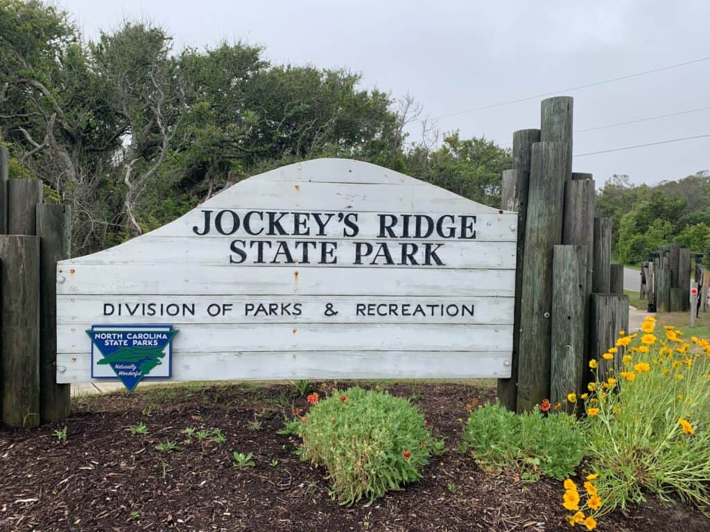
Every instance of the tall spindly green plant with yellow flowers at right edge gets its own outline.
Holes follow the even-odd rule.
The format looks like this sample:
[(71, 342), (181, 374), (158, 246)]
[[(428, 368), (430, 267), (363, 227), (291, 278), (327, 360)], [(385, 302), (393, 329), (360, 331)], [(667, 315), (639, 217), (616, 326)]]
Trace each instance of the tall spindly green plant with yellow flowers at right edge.
[(616, 355), (620, 367), (597, 375), (583, 397), (586, 454), (603, 499), (597, 515), (643, 501), (644, 492), (707, 510), (710, 343), (671, 327), (655, 333), (653, 318), (642, 328), (617, 340), (605, 358)]

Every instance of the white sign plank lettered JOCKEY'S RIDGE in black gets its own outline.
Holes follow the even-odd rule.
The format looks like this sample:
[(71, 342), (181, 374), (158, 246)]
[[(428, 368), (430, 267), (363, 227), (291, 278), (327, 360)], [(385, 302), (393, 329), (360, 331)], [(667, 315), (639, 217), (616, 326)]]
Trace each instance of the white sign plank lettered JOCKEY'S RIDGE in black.
[[(256, 205), (253, 205), (249, 209), (207, 209), (205, 207), (200, 207), (190, 211), (163, 227), (155, 229), (155, 231), (151, 231), (151, 233), (134, 238), (133, 240), (130, 240), (130, 242), (138, 243), (148, 237), (155, 236), (185, 237), (196, 236), (196, 232), (204, 233), (205, 211), (209, 211), (209, 221), (211, 222), (210, 232), (205, 235), (201, 235), (201, 238), (224, 237), (224, 235), (219, 233), (214, 227), (214, 221), (218, 216), (220, 226), (225, 233), (232, 233), (232, 231), (234, 231), (234, 233), (231, 234), (231, 238), (283, 238), (283, 236), (268, 235), (268, 212), (270, 211), (268, 211), (268, 209), (256, 209)], [(317, 213), (319, 216), (313, 216), (312, 211), (304, 211), (302, 209), (284, 209), (283, 206), (281, 209), (272, 209), (271, 212), (276, 213), (272, 216), (275, 220), (279, 221), (280, 226), (283, 227), (284, 231), (291, 233), (289, 238), (298, 238), (302, 240), (351, 239), (349, 236), (352, 234), (351, 228), (349, 228), (349, 226), (347, 226), (346, 223), (340, 219), (338, 212), (330, 210), (319, 211), (319, 213)], [(286, 214), (284, 216), (280, 216), (283, 213)], [(388, 211), (387, 213), (359, 211), (347, 214), (351, 215), (348, 220), (356, 222), (357, 227), (359, 228), (359, 233), (352, 238), (354, 240), (392, 240), (390, 233), (385, 232), (385, 236), (381, 236), (383, 232), (381, 231), (380, 214), (396, 216), (396, 224), (393, 226), (391, 216), (386, 216), (383, 219), (386, 223), (386, 227), (392, 227), (392, 231), (397, 236), (397, 240), (403, 241), (425, 240), (427, 242), (447, 242), (459, 240), (462, 223), (470, 225), (471, 229), (476, 231), (476, 238), (471, 239), (471, 241), (475, 240), (476, 242), (515, 242), (518, 231), (516, 226), (518, 223), (518, 215), (515, 213), (420, 213), (421, 216), (428, 216), (429, 218), (432, 218), (433, 221), (432, 234), (428, 235), (426, 238), (419, 238), (415, 236), (415, 223), (417, 223), (417, 218), (415, 218), (415, 216), (417, 215), (414, 213), (395, 214), (391, 211)], [(357, 218), (354, 218), (354, 215), (356, 215)], [(462, 221), (461, 215), (476, 216), (476, 221), (472, 221), (471, 218), (466, 218), (465, 221)], [(408, 218), (405, 218), (405, 216), (408, 216)], [(319, 225), (319, 222), (324, 226), (323, 228)], [(405, 223), (408, 223), (408, 231), (404, 228)], [(426, 231), (429, 222), (425, 218), (422, 218), (420, 223), (422, 224), (422, 230)], [(441, 228), (441, 233), (444, 235), (443, 237), (442, 235), (439, 235), (439, 227)], [(409, 234), (409, 236), (403, 236), (404, 234)], [(454, 238), (451, 238), (449, 235), (454, 235)], [(466, 236), (470, 235), (470, 230), (467, 230)]]

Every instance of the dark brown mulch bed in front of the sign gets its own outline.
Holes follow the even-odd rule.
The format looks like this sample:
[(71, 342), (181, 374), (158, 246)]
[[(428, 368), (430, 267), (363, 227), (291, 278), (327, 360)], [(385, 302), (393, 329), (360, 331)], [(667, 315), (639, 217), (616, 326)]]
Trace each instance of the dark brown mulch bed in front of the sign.
[[(332, 501), (324, 471), (300, 462), (295, 441), (277, 433), (294, 407), (306, 406), (293, 386), (156, 387), (76, 399), (65, 441), (54, 433), (63, 423), (0, 430), (0, 530), (569, 530), (559, 482), (528, 484), (513, 472), (493, 477), (457, 452), (466, 404), (493, 401), (494, 389), (378, 386), (412, 398), (450, 450), (423, 480), (370, 506)], [(141, 422), (148, 435), (127, 430)], [(183, 443), (188, 427), (220, 428), (226, 442)], [(166, 440), (177, 441), (179, 450), (155, 449)], [(234, 450), (253, 453), (255, 467), (233, 467)], [(710, 520), (688, 506), (650, 499), (603, 517), (598, 529), (707, 532)]]

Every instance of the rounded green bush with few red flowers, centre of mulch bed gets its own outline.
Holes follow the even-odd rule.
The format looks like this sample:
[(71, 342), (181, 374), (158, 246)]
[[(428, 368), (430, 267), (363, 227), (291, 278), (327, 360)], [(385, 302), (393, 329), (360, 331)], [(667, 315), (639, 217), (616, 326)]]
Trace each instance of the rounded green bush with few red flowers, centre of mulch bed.
[(443, 450), (407, 399), (353, 387), (308, 400), (307, 416), (289, 423), (287, 431), (302, 438), (302, 460), (327, 469), (339, 504), (372, 501), (419, 480), (430, 456)]

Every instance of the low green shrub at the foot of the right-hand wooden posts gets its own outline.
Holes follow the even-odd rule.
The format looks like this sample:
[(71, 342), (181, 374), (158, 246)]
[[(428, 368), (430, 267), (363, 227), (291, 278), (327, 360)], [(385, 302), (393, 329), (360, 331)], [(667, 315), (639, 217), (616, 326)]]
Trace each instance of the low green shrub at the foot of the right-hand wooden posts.
[(464, 429), (476, 463), (488, 472), (506, 467), (520, 470), (523, 480), (540, 475), (562, 480), (572, 475), (582, 458), (581, 436), (574, 417), (544, 416), (540, 409), (514, 414), (499, 404), (471, 412)]

